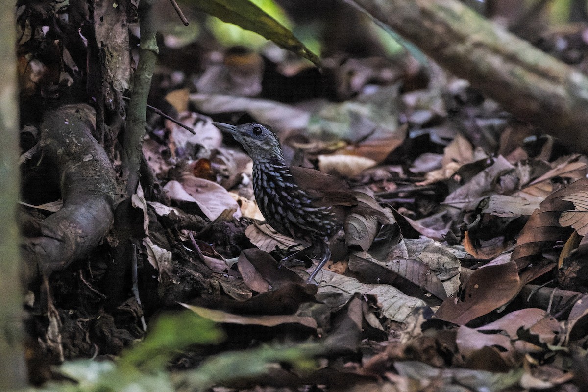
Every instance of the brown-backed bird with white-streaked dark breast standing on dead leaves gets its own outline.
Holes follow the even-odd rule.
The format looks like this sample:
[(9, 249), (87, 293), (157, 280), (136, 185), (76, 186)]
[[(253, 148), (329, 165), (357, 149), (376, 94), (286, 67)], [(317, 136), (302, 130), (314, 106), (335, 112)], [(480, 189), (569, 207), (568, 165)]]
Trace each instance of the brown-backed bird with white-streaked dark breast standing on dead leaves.
[(278, 135), (269, 126), (212, 125), (232, 135), (253, 160), (253, 195), (266, 222), (280, 234), (310, 243), (282, 263), (318, 256), (307, 280), (312, 283), (330, 259), (329, 239), (342, 229), (348, 209), (358, 204), (353, 191), (345, 181), (320, 170), (288, 166)]

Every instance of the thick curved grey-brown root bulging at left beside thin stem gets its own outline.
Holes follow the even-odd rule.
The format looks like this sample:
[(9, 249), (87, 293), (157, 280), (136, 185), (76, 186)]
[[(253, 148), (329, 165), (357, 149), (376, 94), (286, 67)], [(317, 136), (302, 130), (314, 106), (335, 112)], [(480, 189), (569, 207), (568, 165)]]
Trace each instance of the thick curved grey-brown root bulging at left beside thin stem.
[(92, 136), (95, 112), (85, 104), (48, 110), (41, 123), (42, 165), (54, 167), (63, 207), (26, 240), (25, 280), (48, 277), (97, 246), (114, 219), (115, 173)]

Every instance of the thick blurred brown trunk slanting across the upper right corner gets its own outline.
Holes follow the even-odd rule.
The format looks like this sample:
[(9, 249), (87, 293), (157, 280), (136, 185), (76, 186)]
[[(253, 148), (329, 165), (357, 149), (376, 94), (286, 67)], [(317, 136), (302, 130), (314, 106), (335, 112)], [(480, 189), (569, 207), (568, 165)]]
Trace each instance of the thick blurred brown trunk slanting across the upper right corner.
[(588, 78), (457, 0), (348, 0), (503, 108), (588, 152)]

